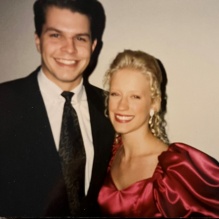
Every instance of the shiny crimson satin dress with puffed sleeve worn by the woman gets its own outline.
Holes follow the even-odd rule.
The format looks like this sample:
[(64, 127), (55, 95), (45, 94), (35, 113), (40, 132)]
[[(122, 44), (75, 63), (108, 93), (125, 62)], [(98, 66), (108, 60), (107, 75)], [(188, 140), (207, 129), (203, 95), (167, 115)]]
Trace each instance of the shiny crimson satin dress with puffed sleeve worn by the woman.
[(103, 216), (219, 218), (218, 161), (183, 143), (171, 144), (158, 160), (151, 178), (123, 190), (114, 185), (109, 165), (98, 196)]

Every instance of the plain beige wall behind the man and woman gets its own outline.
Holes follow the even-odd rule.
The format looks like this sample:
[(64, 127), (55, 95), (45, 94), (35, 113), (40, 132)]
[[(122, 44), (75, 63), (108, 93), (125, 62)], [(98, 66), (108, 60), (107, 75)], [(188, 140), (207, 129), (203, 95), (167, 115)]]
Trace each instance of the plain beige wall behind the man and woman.
[[(34, 45), (33, 2), (0, 0), (0, 82), (26, 76), (40, 64)], [(188, 143), (219, 160), (219, 1), (100, 2), (107, 22), (90, 82), (102, 87), (110, 62), (124, 49), (154, 55), (168, 77), (170, 140)]]

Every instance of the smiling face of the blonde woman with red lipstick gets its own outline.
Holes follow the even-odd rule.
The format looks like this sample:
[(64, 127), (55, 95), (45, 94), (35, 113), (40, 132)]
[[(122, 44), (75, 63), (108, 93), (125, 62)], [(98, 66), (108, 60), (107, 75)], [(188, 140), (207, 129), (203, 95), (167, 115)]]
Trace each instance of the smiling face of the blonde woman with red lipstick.
[(121, 69), (110, 81), (109, 117), (121, 134), (147, 132), (153, 108), (149, 79), (138, 70)]

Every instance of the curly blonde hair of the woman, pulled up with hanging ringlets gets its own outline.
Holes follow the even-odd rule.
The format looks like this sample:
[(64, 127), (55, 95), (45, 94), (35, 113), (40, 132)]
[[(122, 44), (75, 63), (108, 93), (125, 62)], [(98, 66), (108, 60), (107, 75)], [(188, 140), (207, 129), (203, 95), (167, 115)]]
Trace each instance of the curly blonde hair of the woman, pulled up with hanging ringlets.
[(110, 64), (110, 67), (106, 72), (103, 81), (104, 88), (106, 90), (105, 114), (108, 115), (109, 85), (111, 77), (113, 73), (125, 68), (138, 70), (148, 77), (150, 82), (152, 102), (158, 101), (159, 103), (159, 107), (152, 117), (149, 128), (155, 137), (159, 138), (164, 143), (169, 144), (168, 136), (165, 129), (166, 121), (164, 119), (164, 114), (160, 111), (162, 73), (156, 58), (145, 52), (124, 50), (123, 52), (118, 53), (118, 55)]

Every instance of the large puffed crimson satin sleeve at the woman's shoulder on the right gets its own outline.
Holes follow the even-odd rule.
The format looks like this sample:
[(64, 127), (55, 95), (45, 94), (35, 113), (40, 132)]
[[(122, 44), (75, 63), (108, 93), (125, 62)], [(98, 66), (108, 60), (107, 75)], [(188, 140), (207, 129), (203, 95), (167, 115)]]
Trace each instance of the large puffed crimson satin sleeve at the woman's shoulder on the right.
[(219, 217), (219, 163), (183, 143), (159, 156), (154, 182), (157, 208), (165, 217)]

